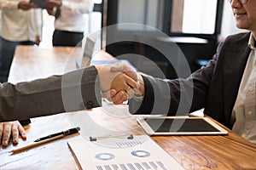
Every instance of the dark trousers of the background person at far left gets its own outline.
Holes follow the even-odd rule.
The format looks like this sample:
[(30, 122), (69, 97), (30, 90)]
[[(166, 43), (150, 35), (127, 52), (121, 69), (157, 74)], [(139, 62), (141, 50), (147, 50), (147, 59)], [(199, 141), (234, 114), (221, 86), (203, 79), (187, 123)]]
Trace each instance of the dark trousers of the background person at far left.
[(7, 82), (17, 45), (33, 45), (35, 42), (11, 42), (0, 37), (0, 82)]

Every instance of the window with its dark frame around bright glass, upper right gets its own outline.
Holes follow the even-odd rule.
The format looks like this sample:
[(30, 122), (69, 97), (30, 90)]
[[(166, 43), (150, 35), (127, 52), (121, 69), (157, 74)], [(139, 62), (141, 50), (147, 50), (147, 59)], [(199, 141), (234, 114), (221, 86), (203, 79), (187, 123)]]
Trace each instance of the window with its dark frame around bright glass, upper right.
[(216, 38), (221, 29), (223, 5), (223, 0), (166, 1), (163, 31), (170, 36)]

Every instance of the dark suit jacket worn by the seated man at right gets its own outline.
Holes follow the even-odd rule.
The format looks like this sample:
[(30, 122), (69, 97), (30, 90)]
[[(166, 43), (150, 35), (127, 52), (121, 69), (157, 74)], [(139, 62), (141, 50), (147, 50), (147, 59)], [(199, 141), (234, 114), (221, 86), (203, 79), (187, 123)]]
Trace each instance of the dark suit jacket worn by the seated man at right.
[[(250, 33), (241, 33), (227, 37), (208, 65), (187, 79), (163, 81), (143, 77), (143, 102), (131, 99), (130, 112), (174, 116), (205, 108), (205, 114), (232, 127), (230, 116), (250, 53), (249, 36)], [(189, 81), (193, 81), (193, 86)]]

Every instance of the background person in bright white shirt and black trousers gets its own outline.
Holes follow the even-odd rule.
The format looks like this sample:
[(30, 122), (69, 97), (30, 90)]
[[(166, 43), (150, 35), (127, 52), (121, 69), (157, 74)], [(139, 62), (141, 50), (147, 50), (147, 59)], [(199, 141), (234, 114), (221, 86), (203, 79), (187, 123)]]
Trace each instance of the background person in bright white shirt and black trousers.
[(46, 0), (48, 14), (55, 16), (53, 46), (81, 46), (86, 28), (86, 14), (93, 0)]

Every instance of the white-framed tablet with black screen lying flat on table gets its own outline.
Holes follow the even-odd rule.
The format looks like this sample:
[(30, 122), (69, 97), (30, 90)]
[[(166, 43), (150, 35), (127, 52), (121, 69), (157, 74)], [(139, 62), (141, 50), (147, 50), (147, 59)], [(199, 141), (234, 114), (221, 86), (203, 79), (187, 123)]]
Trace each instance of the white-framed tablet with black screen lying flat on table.
[(137, 118), (149, 135), (205, 135), (228, 132), (207, 117), (153, 116)]

